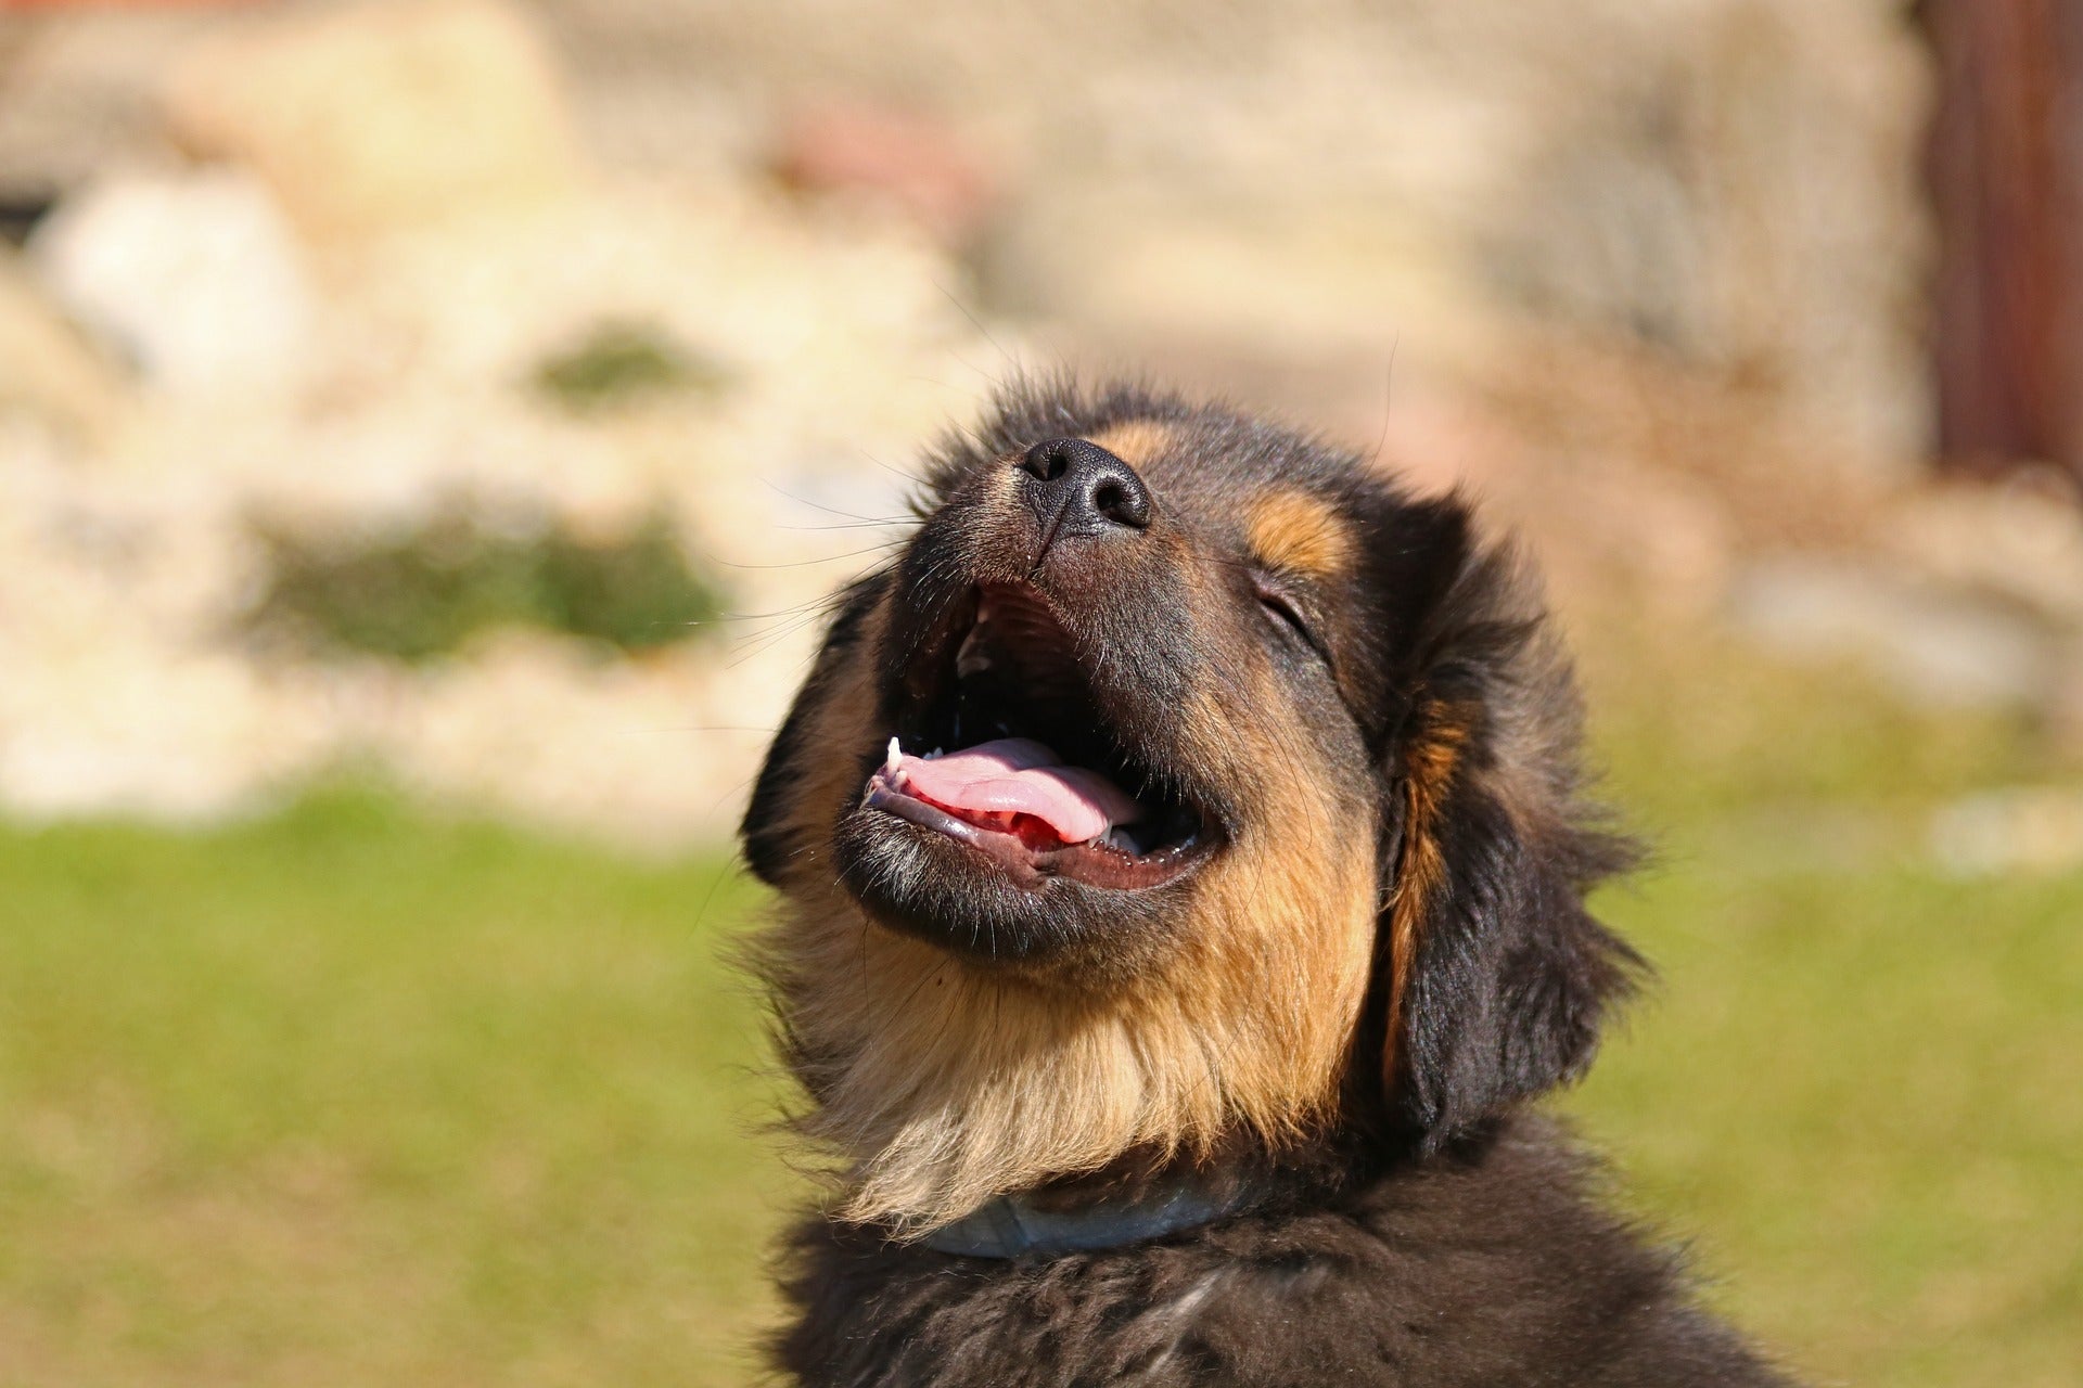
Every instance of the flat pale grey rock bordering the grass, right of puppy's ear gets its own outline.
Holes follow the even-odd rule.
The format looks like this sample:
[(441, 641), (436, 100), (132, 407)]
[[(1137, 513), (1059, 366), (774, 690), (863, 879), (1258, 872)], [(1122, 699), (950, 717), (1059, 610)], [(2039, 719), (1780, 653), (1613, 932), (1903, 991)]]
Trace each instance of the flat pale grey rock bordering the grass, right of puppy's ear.
[(2000, 601), (1852, 560), (1752, 564), (1733, 616), (1789, 656), (1871, 666), (1906, 703), (2043, 710), (2054, 695), (2054, 633)]

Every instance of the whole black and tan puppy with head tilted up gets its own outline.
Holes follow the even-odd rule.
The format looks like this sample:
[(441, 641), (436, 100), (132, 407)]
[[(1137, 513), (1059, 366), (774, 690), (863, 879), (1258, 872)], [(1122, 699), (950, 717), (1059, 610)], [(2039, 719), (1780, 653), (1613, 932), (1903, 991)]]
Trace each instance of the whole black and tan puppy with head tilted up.
[(800, 1384), (1779, 1384), (1521, 1105), (1639, 961), (1539, 599), (1458, 499), (1023, 385), (839, 599), (744, 824)]

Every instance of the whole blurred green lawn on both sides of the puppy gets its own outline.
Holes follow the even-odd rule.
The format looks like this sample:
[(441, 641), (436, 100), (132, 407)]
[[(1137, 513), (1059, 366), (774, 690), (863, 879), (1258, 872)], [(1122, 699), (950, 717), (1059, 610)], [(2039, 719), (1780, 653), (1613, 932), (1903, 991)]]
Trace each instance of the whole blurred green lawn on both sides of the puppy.
[[(2083, 874), (1916, 851), (2031, 741), (1652, 645), (1593, 689), (1660, 845), (1604, 907), (1664, 982), (1568, 1099), (1627, 1199), (1821, 1382), (2073, 1388)], [(371, 795), (0, 832), (0, 1386), (750, 1382), (752, 909)]]

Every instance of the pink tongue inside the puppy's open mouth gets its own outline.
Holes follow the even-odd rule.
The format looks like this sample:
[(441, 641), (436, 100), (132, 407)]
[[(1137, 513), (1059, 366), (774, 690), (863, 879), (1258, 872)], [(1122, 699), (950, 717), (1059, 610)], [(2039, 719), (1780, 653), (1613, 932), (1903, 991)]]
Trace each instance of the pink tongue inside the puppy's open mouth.
[(883, 772), (900, 789), (946, 809), (1031, 814), (1064, 843), (1098, 839), (1133, 824), (1144, 809), (1112, 780), (1062, 766), (1054, 751), (1025, 737), (979, 743), (944, 757), (898, 757)]

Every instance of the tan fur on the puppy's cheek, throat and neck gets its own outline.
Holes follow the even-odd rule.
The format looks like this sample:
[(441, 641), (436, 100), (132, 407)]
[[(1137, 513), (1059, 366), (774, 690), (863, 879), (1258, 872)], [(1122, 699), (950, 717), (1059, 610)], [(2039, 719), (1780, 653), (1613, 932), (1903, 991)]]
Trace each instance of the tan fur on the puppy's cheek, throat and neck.
[[(864, 674), (825, 701), (814, 745), (852, 768), (879, 730), (848, 680)], [(1237, 693), (1256, 697), (1185, 716), (1223, 732), (1208, 745), (1225, 774), (1262, 785), (1262, 818), (1194, 880), (1194, 928), (1164, 968), (1116, 993), (967, 963), (869, 924), (829, 866), (792, 874), (767, 953), (814, 1057), (806, 1128), (850, 1163), (844, 1217), (923, 1232), (1131, 1151), (1206, 1153), (1239, 1128), (1298, 1138), (1329, 1109), (1373, 947), (1373, 830), (1298, 739), (1252, 722), (1279, 708), (1269, 689)], [(831, 789), (806, 785), (802, 814), (829, 816)]]

